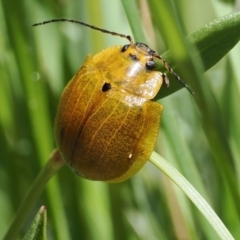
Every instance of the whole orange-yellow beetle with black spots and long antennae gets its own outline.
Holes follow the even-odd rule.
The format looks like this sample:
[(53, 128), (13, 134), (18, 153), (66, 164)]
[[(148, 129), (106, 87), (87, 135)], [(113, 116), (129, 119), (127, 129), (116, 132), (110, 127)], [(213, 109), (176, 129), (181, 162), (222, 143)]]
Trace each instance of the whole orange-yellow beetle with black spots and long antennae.
[(155, 59), (189, 88), (160, 55), (130, 36), (69, 19), (33, 26), (51, 22), (77, 23), (129, 41), (86, 58), (61, 95), (54, 126), (61, 156), (78, 175), (124, 181), (149, 159), (158, 135), (163, 106), (152, 99), (169, 80), (154, 70)]

